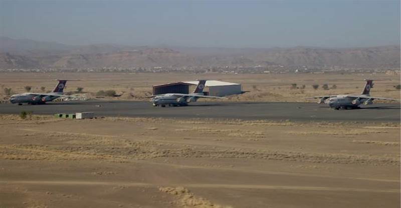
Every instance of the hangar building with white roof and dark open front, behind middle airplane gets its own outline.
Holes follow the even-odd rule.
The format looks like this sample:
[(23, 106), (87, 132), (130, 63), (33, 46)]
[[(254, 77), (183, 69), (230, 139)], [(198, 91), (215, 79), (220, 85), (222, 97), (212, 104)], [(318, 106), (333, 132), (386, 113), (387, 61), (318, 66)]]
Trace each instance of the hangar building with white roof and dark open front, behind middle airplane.
[[(176, 82), (163, 85), (153, 86), (153, 95), (160, 95), (166, 93), (183, 93), (188, 94), (193, 91), (198, 81)], [(189, 90), (189, 86), (192, 90)], [(207, 80), (205, 84), (204, 94), (210, 96), (227, 96), (242, 93), (241, 84), (223, 82), (218, 80)]]

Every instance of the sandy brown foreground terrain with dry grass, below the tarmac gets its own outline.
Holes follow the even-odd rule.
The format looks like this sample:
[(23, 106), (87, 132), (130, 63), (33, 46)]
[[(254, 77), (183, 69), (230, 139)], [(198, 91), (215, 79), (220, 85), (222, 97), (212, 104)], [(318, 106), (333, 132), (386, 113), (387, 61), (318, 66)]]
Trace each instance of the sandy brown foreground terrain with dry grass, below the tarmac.
[(0, 115), (0, 207), (399, 207), (399, 129)]

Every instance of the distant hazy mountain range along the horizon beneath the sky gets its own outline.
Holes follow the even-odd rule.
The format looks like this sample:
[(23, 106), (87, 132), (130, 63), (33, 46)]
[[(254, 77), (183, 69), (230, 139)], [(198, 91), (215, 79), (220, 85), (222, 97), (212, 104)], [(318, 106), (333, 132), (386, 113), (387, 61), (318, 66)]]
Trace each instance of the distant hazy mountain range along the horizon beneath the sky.
[(0, 37), (0, 68), (307, 66), (399, 68), (400, 47), (150, 48), (115, 44), (72, 46)]

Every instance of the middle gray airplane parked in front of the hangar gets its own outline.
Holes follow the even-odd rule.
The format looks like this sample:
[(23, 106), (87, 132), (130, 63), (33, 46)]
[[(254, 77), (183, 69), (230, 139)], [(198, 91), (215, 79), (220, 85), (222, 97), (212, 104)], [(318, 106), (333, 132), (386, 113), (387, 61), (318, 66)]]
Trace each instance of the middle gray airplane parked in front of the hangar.
[(186, 106), (190, 102), (196, 102), (199, 98), (222, 98), (215, 96), (204, 95), (203, 90), (205, 88), (206, 80), (199, 80), (193, 93), (182, 94), (182, 93), (167, 93), (161, 95), (154, 95), (152, 97), (153, 106)]

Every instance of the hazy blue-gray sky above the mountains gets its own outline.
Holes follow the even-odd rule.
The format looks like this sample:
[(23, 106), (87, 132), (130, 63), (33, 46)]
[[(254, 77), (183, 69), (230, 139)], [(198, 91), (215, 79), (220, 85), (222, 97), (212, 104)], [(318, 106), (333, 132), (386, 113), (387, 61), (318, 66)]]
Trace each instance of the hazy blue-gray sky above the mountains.
[[(0, 36), (187, 47), (399, 45), (399, 1), (3, 1)], [(1, 47), (1, 46), (0, 46)]]

